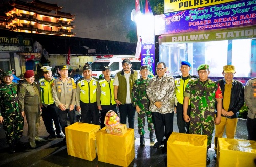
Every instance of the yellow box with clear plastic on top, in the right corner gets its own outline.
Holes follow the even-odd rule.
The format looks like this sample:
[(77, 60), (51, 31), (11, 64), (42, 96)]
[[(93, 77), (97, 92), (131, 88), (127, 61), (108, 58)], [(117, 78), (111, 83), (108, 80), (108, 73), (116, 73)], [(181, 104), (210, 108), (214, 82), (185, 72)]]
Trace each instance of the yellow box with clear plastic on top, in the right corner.
[(256, 141), (218, 138), (216, 166), (255, 166)]

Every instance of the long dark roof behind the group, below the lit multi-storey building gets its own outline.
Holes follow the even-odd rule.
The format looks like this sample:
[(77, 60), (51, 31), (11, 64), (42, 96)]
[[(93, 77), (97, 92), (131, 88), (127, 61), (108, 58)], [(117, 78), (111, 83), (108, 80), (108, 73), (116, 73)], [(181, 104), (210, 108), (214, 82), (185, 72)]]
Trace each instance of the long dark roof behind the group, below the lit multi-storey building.
[[(0, 37), (16, 38), (21, 35), (24, 39), (30, 38), (31, 43), (39, 42), (50, 55), (68, 54), (69, 47), (71, 55), (134, 55), (136, 51), (135, 43), (22, 33), (1, 29), (0, 34)], [(88, 48), (95, 49), (96, 53), (88, 53)]]

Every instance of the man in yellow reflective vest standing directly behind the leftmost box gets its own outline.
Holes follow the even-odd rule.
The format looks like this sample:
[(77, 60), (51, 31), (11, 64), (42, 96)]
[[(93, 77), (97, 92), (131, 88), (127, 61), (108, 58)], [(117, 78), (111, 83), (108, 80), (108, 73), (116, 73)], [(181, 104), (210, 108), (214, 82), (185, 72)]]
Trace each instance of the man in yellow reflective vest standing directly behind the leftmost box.
[(97, 109), (98, 79), (92, 77), (91, 66), (83, 67), (83, 78), (77, 81), (76, 110), (81, 111), (82, 122), (99, 124), (99, 111)]

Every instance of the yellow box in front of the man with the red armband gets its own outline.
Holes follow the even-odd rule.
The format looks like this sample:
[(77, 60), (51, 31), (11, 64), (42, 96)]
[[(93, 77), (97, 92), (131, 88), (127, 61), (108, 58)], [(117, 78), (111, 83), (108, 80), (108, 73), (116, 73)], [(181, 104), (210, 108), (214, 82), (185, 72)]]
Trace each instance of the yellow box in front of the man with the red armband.
[(167, 166), (206, 166), (207, 135), (173, 132), (167, 141)]

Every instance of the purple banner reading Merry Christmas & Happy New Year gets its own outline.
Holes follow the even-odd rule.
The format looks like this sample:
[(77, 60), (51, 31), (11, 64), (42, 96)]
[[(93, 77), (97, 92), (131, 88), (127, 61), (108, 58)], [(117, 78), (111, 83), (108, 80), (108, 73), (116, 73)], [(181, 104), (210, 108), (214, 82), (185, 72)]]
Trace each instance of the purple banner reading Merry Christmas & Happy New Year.
[(256, 25), (256, 1), (173, 12), (155, 16), (155, 35)]

